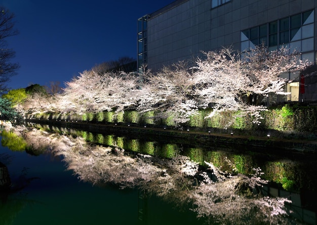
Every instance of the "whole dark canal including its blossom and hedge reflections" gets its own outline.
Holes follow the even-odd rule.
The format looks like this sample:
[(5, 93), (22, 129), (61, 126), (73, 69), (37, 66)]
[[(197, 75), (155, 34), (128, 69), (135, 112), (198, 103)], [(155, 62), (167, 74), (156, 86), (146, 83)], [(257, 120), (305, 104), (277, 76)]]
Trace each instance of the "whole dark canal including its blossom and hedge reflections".
[(0, 224), (316, 224), (315, 154), (28, 127), (2, 128)]

